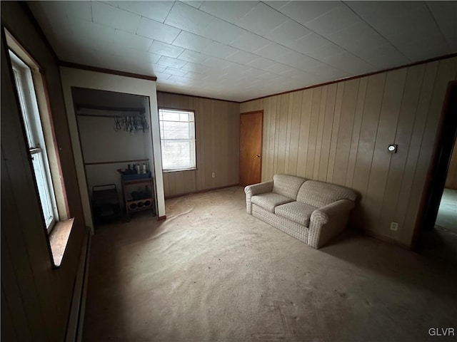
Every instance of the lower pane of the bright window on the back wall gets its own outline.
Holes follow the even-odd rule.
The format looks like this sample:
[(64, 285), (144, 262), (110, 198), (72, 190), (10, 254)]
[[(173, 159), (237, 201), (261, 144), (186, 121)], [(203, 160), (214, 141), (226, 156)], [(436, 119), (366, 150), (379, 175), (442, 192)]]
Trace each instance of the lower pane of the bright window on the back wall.
[(162, 163), (164, 170), (195, 167), (195, 141), (163, 140)]

